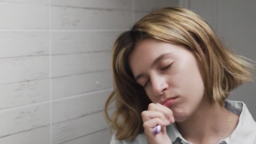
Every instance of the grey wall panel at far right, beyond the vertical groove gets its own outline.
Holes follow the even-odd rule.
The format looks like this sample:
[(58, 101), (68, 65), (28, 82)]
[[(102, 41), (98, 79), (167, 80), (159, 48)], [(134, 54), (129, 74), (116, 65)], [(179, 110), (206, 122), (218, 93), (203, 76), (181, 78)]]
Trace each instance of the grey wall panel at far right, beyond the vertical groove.
[[(256, 1), (218, 0), (217, 30), (235, 53), (256, 61)], [(252, 63), (252, 62), (251, 62)], [(255, 63), (254, 63), (255, 67)], [(254, 72), (255, 74), (255, 72)], [(230, 100), (243, 101), (256, 120), (256, 79), (235, 89)]]

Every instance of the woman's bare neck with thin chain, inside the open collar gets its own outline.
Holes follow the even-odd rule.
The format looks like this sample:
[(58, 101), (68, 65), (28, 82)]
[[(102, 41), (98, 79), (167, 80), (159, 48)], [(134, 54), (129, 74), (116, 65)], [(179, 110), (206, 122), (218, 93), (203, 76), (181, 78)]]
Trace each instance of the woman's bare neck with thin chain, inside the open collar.
[[(206, 97), (206, 96), (205, 96)], [(221, 138), (229, 121), (229, 112), (218, 103), (211, 103), (204, 98), (196, 112), (184, 122), (177, 122), (181, 135), (190, 141)]]

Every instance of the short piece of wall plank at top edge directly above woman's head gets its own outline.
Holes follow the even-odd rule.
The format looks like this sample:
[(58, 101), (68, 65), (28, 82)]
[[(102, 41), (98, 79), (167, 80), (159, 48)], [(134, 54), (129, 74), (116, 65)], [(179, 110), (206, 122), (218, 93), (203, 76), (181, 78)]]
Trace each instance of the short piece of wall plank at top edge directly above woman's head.
[(154, 9), (179, 6), (179, 0), (134, 0), (135, 11), (151, 12)]

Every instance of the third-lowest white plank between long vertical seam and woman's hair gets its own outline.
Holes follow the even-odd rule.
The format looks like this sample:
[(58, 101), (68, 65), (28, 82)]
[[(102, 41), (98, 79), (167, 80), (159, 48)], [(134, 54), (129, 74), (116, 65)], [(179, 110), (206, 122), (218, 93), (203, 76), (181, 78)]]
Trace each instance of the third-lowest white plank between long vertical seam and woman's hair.
[(107, 90), (72, 99), (54, 101), (52, 104), (52, 122), (71, 120), (103, 110), (105, 101), (111, 92), (112, 90)]

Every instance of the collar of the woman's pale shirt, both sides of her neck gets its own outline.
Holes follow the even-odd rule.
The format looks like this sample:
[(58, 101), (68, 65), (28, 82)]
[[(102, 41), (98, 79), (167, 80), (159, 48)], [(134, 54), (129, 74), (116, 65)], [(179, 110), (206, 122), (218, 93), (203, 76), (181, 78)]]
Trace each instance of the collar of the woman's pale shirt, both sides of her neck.
[[(244, 104), (242, 101), (225, 100), (225, 107), (229, 111), (239, 115), (239, 122), (235, 128), (235, 131), (233, 131), (233, 133), (227, 139), (221, 141), (232, 143), (232, 141), (240, 141), (239, 139), (241, 139), (241, 137), (244, 140), (248, 137), (255, 136), (255, 132), (253, 131), (255, 131), (254, 129), (256, 128), (256, 123), (246, 107), (246, 104)], [(178, 139), (187, 142), (177, 130), (175, 123), (168, 125), (166, 130), (172, 142)]]

